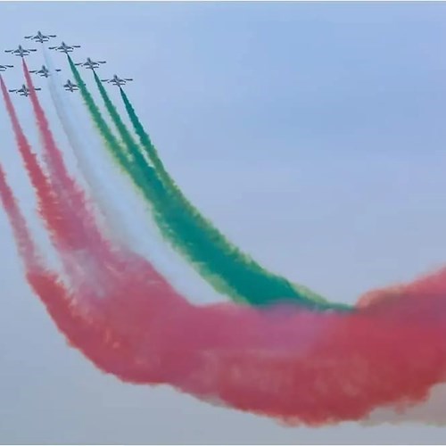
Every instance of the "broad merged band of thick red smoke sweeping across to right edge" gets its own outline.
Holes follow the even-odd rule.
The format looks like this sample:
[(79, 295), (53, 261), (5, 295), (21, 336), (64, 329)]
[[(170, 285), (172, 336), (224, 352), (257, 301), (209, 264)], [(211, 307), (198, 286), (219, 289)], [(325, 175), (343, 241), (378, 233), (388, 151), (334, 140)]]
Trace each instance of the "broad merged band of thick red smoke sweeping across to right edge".
[[(116, 265), (125, 272), (96, 266), (111, 284), (103, 299), (95, 290), (102, 285), (91, 281), (92, 289), (70, 297), (74, 310), (65, 305), (62, 316), (52, 316), (96, 367), (124, 381), (171, 384), (203, 400), (309, 425), (423, 401), (444, 381), (444, 270), (378, 291), (357, 313), (338, 314), (196, 307), (150, 265)], [(51, 277), (30, 274), (29, 281), (39, 295), (69, 299)]]

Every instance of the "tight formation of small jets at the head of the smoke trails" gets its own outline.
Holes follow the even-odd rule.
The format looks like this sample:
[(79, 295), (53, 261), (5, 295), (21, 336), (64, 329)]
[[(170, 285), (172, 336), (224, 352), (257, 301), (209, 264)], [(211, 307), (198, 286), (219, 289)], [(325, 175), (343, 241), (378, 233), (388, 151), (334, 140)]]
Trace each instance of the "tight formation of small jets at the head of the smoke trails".
[[(39, 42), (41, 44), (44, 44), (45, 42), (48, 42), (51, 38), (57, 37), (55, 34), (43, 34), (41, 31), (37, 31), (36, 35), (31, 36), (25, 36), (26, 39), (32, 40), (34, 42)], [(50, 50), (55, 50), (61, 53), (69, 54), (72, 53), (76, 48), (80, 48), (80, 45), (67, 45), (65, 42), (62, 41), (61, 45), (56, 46), (49, 46)], [(25, 58), (25, 56), (28, 56), (31, 53), (36, 52), (36, 48), (24, 48), (22, 45), (19, 45), (16, 49), (12, 50), (4, 50), (5, 53), (9, 53), (12, 55), (20, 56), (22, 59)], [(86, 62), (78, 62), (75, 63), (76, 66), (86, 68), (87, 70), (95, 70), (96, 68), (99, 68), (103, 63), (106, 63), (105, 61), (93, 61), (89, 57), (87, 58)], [(7, 69), (13, 68), (13, 65), (0, 65), (0, 71), (5, 71)], [(61, 71), (61, 70), (56, 70)], [(42, 65), (42, 67), (39, 70), (29, 70), (30, 73), (37, 74), (38, 76), (42, 78), (48, 78), (51, 73), (50, 70), (48, 70), (45, 65)], [(123, 85), (126, 85), (127, 82), (132, 81), (132, 78), (119, 78), (116, 74), (113, 75), (110, 79), (101, 79), (104, 83), (109, 83), (113, 86), (120, 87)], [(71, 93), (78, 91), (78, 85), (74, 84), (70, 81), (70, 79), (67, 80), (67, 82), (63, 85), (66, 91), (70, 91)], [(34, 90), (39, 91), (41, 88), (34, 88)], [(16, 93), (21, 96), (29, 96), (29, 88), (26, 87), (26, 85), (22, 85), (21, 88), (17, 88), (14, 90), (9, 90), (11, 93)]]

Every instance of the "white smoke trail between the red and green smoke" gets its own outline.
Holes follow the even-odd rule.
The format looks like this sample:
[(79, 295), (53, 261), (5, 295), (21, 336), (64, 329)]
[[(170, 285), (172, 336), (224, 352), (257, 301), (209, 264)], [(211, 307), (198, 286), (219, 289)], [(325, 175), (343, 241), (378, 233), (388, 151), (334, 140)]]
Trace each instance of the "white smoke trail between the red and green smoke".
[(83, 128), (81, 120), (75, 116), (67, 92), (62, 88), (62, 81), (54, 70), (51, 56), (45, 47), (43, 50), (46, 66), (51, 73), (48, 81), (54, 107), (78, 162), (78, 168), (87, 181), (89, 192), (103, 214), (105, 225), (111, 230), (112, 236), (153, 263), (153, 267), (190, 301), (225, 301), (192, 267), (180, 260), (169, 245), (162, 242), (149, 208), (134, 192), (128, 178), (111, 161), (99, 135)]

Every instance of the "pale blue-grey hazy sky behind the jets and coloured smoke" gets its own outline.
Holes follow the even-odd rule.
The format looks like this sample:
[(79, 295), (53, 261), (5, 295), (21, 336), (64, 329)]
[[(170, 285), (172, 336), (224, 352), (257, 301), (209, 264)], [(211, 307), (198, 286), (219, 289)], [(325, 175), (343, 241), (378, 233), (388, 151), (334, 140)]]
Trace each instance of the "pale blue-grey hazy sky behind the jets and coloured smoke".
[[(171, 175), (265, 267), (352, 303), (444, 265), (446, 4), (0, 3), (2, 48), (38, 29), (82, 45), (75, 61), (106, 60), (101, 76), (135, 79), (126, 92)], [(16, 64), (10, 88), (23, 83), (13, 59), (0, 53)], [(68, 78), (63, 55), (54, 61)], [(27, 62), (38, 68), (43, 55)], [(64, 145), (45, 83), (39, 97)], [(14, 103), (38, 150), (29, 101)], [(32, 218), (3, 106), (0, 135)], [(45, 238), (35, 218), (33, 229)], [(3, 211), (0, 237), (0, 442), (444, 442), (442, 427), (288, 427), (122, 384), (70, 349), (30, 293)]]

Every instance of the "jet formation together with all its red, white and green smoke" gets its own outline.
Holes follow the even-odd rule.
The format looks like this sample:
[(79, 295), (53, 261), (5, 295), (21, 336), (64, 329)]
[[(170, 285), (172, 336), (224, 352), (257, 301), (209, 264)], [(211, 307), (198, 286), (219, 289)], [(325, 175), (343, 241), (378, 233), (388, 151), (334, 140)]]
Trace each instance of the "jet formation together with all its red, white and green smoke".
[[(125, 383), (167, 384), (290, 425), (367, 421), (375, 409), (421, 403), (444, 383), (446, 268), (346, 305), (262, 267), (170, 176), (124, 90), (137, 79), (99, 77), (105, 61), (75, 62), (71, 54), (80, 46), (46, 47), (54, 37), (40, 31), (25, 37), (41, 45), (38, 70), (26, 62), (36, 48), (6, 50), (2, 57), (18, 56), (19, 63), (0, 61), (8, 62), (0, 71), (22, 70), (24, 81), (15, 89), (2, 76), (0, 83), (36, 218), (59, 269), (37, 246), (1, 165), (0, 199), (24, 279), (70, 348)], [(52, 50), (66, 54), (68, 80)], [(35, 86), (32, 75), (45, 78), (47, 88)], [(120, 103), (108, 86), (119, 89)], [(46, 93), (57, 122), (39, 100)], [(39, 147), (29, 143), (12, 94), (29, 102)], [(95, 137), (83, 130), (70, 94), (80, 96)], [(55, 126), (70, 145), (56, 141)], [(159, 243), (141, 236), (149, 230)], [(224, 301), (194, 300), (171, 259)]]

